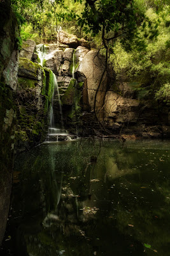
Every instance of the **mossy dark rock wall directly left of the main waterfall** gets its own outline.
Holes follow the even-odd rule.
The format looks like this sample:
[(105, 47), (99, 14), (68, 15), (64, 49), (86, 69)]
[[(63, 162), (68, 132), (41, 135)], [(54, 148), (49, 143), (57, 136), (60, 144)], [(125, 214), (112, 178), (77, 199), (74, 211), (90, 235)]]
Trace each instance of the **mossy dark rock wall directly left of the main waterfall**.
[(20, 58), (15, 150), (21, 152), (45, 140), (53, 86), (53, 73), (49, 68)]

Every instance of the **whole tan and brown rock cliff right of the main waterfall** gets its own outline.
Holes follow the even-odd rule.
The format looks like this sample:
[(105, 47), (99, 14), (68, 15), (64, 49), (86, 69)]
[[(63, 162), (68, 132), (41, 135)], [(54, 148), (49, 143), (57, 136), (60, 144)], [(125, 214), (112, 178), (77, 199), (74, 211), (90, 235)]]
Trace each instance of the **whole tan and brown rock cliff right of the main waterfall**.
[[(45, 66), (57, 75), (64, 125), (69, 131), (75, 125), (89, 125), (96, 127), (97, 131), (97, 125), (99, 127), (101, 124), (113, 133), (134, 131), (139, 136), (146, 137), (145, 132), (152, 131), (152, 134), (156, 135), (157, 131), (151, 127), (152, 123), (159, 122), (160, 126), (166, 124), (165, 118), (168, 113), (164, 120), (160, 121), (156, 109), (148, 106), (148, 102), (135, 99), (134, 90), (124, 72), (122, 83), (113, 81), (112, 89), (108, 90), (110, 82), (106, 74), (104, 57), (97, 50), (89, 50), (78, 45), (80, 40), (76, 36), (63, 32), (60, 35), (60, 42), (69, 47), (60, 47), (59, 44), (45, 45)], [(55, 92), (55, 112), (59, 112), (57, 97), (58, 93)], [(56, 114), (56, 117), (60, 120), (59, 115)], [(88, 129), (88, 132), (93, 132), (92, 128)], [(162, 128), (161, 131), (163, 132)], [(169, 130), (164, 131), (168, 134)]]

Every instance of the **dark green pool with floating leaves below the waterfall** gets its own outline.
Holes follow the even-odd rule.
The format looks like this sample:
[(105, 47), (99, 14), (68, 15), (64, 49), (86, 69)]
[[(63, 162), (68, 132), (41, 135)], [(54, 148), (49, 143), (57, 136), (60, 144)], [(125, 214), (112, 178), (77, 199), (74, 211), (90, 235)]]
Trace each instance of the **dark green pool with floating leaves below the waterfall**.
[(5, 255), (170, 255), (170, 143), (47, 143), (15, 159)]

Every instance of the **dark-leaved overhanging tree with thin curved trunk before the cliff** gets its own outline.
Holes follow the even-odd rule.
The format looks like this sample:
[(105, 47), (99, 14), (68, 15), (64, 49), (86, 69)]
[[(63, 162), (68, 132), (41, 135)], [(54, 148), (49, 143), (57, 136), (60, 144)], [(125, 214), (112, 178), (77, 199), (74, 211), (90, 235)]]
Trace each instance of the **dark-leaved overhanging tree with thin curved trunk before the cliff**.
[[(81, 0), (75, 0), (82, 3)], [(138, 26), (143, 22), (143, 30), (148, 29), (146, 37), (153, 38), (157, 35), (157, 26), (152, 27), (152, 22), (145, 17), (145, 11), (138, 8), (135, 1), (131, 0), (85, 0), (85, 9), (82, 16), (78, 17), (78, 24), (85, 33), (95, 36), (101, 33), (104, 49), (106, 50), (106, 64), (103, 72), (109, 73), (108, 62), (113, 46), (119, 38), (125, 49), (131, 50), (132, 41), (139, 51), (146, 47), (145, 40), (139, 35)], [(102, 83), (102, 79), (101, 79)], [(101, 83), (96, 90), (94, 113), (96, 115), (96, 98)], [(97, 117), (97, 115), (96, 115)]]

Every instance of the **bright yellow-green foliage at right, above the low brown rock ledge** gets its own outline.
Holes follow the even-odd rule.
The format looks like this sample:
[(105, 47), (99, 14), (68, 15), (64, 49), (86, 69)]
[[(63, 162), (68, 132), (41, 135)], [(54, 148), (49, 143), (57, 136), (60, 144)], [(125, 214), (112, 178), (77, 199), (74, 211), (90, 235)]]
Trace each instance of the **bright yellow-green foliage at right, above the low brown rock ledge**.
[[(146, 19), (150, 17), (152, 27), (157, 29), (158, 35), (150, 38), (148, 21), (143, 21), (138, 27), (138, 34), (143, 37), (145, 49), (138, 49), (138, 44), (131, 44), (131, 51), (126, 51), (120, 40), (117, 40), (110, 55), (110, 61), (120, 79), (124, 71), (128, 79), (138, 82), (139, 97), (150, 95), (155, 99), (167, 102), (168, 92), (164, 88), (170, 79), (169, 67), (169, 7), (164, 6), (159, 12), (148, 8)], [(148, 34), (145, 37), (145, 34)], [(155, 94), (156, 93), (156, 94)], [(167, 97), (166, 97), (167, 93)]]

